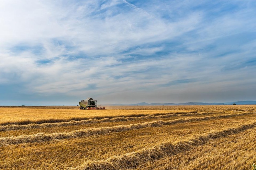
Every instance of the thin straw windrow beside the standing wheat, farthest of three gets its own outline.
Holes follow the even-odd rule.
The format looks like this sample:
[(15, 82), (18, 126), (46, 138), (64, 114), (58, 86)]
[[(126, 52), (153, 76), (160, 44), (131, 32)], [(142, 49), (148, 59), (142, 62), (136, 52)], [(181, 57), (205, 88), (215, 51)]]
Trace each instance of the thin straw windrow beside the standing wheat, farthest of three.
[[(9, 124), (0, 126), (0, 132), (4, 131), (12, 131), (12, 130), (26, 130), (26, 129), (40, 129), (40, 128), (47, 128), (47, 127), (63, 127), (63, 126), (75, 126), (75, 125), (85, 125), (91, 123), (102, 123), (102, 122), (122, 122), (122, 121), (134, 121), (134, 120), (145, 120), (145, 119), (159, 119), (159, 118), (170, 118), (170, 117), (185, 117), (185, 116), (199, 116), (199, 115), (208, 115), (208, 114), (215, 114), (218, 112), (208, 112), (208, 113), (181, 113), (181, 114), (161, 114), (158, 116), (141, 116), (141, 117), (116, 117), (116, 118), (104, 118), (104, 119), (88, 119), (88, 120), (80, 120), (80, 121), (70, 121), (70, 122), (59, 122), (59, 123), (43, 123), (43, 124)], [(220, 112), (222, 113), (222, 112)]]

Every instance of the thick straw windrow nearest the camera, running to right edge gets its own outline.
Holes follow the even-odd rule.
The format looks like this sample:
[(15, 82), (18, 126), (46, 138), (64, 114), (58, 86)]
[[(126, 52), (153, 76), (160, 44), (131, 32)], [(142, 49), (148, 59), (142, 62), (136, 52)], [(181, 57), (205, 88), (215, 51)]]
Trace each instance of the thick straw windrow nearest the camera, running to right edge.
[(248, 129), (256, 127), (256, 121), (251, 121), (247, 124), (241, 124), (234, 127), (225, 128), (219, 131), (210, 131), (197, 135), (187, 140), (169, 143), (165, 142), (155, 145), (151, 148), (141, 149), (133, 153), (128, 153), (120, 156), (112, 156), (106, 160), (86, 161), (81, 165), (70, 168), (70, 170), (120, 170), (134, 169), (142, 163), (149, 160), (157, 160), (166, 156), (173, 156), (184, 151), (189, 151), (197, 146), (204, 145), (218, 138), (227, 137), (232, 134), (238, 134)]

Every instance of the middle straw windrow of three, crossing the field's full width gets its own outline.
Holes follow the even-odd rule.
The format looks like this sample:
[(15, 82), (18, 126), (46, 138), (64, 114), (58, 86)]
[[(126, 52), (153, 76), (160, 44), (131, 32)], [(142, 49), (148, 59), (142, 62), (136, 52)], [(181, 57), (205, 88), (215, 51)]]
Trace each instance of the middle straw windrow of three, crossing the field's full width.
[(105, 135), (112, 132), (122, 132), (122, 131), (128, 131), (128, 130), (142, 129), (146, 127), (161, 127), (164, 125), (172, 125), (177, 123), (229, 118), (229, 117), (243, 116), (248, 114), (255, 114), (255, 112), (244, 112), (244, 113), (236, 113), (236, 114), (224, 114), (224, 115), (193, 117), (193, 118), (179, 118), (179, 119), (168, 120), (168, 121), (159, 120), (159, 121), (137, 123), (137, 124), (130, 124), (130, 125), (82, 129), (82, 130), (76, 130), (76, 131), (66, 132), (66, 133), (52, 133), (52, 134), (37, 133), (33, 135), (21, 135), (17, 137), (1, 137), (0, 146), (22, 144), (22, 143), (46, 142), (46, 141), (68, 139), (68, 138), (87, 137), (92, 135)]

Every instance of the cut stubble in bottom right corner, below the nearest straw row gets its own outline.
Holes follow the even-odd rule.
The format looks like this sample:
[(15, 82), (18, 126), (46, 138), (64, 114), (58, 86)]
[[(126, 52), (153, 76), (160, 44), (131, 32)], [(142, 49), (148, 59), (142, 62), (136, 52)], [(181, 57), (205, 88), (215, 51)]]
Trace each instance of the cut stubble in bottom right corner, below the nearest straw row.
[(256, 130), (220, 138), (183, 153), (157, 161), (147, 161), (136, 170), (193, 170), (223, 169), (251, 170), (256, 162)]

